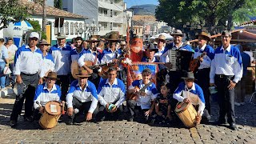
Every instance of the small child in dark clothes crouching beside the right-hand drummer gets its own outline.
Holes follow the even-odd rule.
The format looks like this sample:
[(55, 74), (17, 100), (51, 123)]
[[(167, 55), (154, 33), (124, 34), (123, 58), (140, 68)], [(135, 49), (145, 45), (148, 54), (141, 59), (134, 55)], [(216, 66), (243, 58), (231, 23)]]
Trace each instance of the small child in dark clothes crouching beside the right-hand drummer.
[(155, 99), (155, 123), (158, 124), (170, 124), (171, 120), (171, 95), (170, 95), (170, 83), (162, 82), (160, 84), (161, 94), (158, 94), (158, 98)]

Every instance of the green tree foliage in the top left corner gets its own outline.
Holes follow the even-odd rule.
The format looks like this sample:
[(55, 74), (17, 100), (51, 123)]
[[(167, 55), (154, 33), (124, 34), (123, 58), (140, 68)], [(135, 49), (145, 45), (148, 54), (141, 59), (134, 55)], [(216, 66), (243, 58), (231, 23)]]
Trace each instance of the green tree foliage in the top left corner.
[(27, 20), (29, 17), (26, 6), (21, 5), (18, 0), (0, 1), (0, 30), (6, 28), (10, 22)]

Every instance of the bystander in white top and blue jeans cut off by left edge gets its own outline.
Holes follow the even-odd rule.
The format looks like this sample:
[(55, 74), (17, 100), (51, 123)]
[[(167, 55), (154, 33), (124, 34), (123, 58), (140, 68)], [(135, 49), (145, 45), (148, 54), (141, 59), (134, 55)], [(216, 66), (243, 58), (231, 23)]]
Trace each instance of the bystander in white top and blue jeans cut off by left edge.
[(9, 66), (9, 55), (4, 46), (4, 39), (0, 38), (0, 86), (1, 90), (6, 90), (6, 75), (4, 74), (4, 68)]

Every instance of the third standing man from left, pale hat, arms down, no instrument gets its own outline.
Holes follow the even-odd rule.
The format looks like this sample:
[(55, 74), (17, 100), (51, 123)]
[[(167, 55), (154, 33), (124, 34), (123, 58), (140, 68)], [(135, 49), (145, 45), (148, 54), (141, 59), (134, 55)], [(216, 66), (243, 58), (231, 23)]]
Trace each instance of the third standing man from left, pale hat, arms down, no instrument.
[(66, 45), (66, 35), (58, 34), (58, 44), (50, 47), (50, 54), (54, 57), (55, 68), (60, 80), (57, 84), (62, 87), (62, 100), (66, 100), (66, 93), (70, 85), (70, 51), (72, 47)]

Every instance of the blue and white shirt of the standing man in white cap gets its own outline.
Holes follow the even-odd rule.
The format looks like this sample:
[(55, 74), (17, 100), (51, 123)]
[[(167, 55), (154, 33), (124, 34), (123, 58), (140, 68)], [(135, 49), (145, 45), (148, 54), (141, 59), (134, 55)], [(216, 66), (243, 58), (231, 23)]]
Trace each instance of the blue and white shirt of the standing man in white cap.
[(43, 78), (45, 73), (42, 70), (42, 51), (35, 47), (34, 52), (31, 51), (29, 46), (20, 47), (15, 54), (14, 58), (14, 74), (36, 74), (39, 71), (40, 78)]

